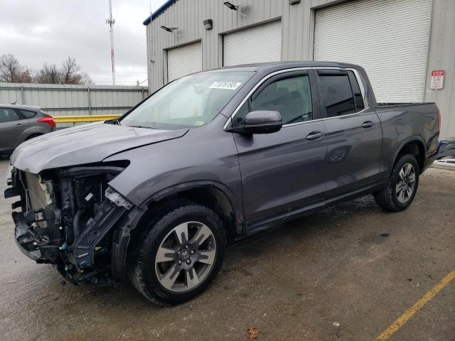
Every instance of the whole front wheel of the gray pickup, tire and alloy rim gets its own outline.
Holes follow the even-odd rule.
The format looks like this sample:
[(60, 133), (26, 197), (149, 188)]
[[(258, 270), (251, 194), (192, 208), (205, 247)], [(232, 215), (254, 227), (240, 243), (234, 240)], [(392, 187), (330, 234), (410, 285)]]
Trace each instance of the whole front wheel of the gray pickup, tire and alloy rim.
[(159, 305), (188, 301), (215, 278), (225, 244), (223, 224), (213, 210), (181, 202), (149, 223), (130, 259), (129, 278)]

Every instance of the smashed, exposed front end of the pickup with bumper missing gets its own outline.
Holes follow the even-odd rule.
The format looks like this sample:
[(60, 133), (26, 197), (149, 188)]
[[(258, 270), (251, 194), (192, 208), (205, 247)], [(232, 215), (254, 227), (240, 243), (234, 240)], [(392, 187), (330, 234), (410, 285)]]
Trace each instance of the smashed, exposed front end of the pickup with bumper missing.
[(37, 263), (54, 264), (73, 283), (111, 281), (112, 231), (132, 204), (109, 187), (128, 165), (102, 163), (42, 171), (11, 170), (18, 247)]

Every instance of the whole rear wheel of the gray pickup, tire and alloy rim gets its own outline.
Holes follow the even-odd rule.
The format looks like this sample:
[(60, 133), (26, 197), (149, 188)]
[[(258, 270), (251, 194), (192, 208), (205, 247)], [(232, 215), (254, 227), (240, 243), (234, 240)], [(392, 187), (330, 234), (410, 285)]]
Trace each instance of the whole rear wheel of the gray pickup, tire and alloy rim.
[(399, 212), (414, 200), (419, 185), (419, 164), (411, 154), (400, 156), (392, 169), (387, 187), (375, 193), (375, 200), (385, 210)]

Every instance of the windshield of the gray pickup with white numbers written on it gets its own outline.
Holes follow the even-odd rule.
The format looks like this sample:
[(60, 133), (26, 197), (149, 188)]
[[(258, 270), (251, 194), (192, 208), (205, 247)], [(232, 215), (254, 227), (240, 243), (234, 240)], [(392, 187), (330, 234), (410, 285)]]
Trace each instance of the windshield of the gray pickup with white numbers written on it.
[(181, 129), (215, 117), (254, 72), (189, 75), (163, 87), (120, 121), (122, 126)]

